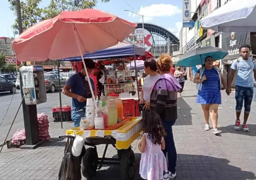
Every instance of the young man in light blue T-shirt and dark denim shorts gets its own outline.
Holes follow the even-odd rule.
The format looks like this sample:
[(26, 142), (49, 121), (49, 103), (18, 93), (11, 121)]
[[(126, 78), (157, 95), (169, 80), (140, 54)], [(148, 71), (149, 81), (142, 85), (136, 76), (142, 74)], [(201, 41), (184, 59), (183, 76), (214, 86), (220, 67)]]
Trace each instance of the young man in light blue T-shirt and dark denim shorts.
[(237, 120), (235, 123), (235, 130), (239, 130), (241, 128), (240, 115), (242, 111), (243, 101), (245, 100), (245, 115), (242, 128), (244, 131), (250, 131), (246, 123), (250, 114), (250, 105), (253, 99), (253, 72), (254, 78), (256, 79), (256, 62), (255, 59), (249, 57), (250, 51), (251, 48), (248, 44), (242, 45), (239, 48), (241, 57), (239, 57), (237, 60), (234, 60), (231, 65), (231, 74), (228, 80), (228, 87), (226, 89), (227, 95), (230, 95), (231, 84), (237, 71), (235, 95), (237, 101)]

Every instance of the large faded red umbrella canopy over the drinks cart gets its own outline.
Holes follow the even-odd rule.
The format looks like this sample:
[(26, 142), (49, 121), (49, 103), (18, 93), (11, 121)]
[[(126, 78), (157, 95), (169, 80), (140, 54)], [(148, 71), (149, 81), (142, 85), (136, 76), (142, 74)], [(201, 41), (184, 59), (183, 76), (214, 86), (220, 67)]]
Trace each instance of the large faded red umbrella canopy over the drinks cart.
[(79, 56), (78, 45), (83, 55), (114, 46), (135, 27), (135, 23), (97, 9), (63, 11), (25, 30), (12, 46), (19, 61), (58, 60)]

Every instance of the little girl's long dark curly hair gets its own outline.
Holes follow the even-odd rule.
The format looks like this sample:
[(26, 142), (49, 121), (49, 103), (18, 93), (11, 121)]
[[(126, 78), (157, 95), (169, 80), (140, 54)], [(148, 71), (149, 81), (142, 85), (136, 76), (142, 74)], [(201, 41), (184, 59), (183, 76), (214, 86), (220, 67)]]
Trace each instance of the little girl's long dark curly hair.
[(156, 112), (147, 112), (143, 127), (145, 129), (144, 133), (147, 133), (147, 138), (153, 144), (161, 145), (162, 137), (166, 136), (166, 132), (161, 123), (161, 118)]

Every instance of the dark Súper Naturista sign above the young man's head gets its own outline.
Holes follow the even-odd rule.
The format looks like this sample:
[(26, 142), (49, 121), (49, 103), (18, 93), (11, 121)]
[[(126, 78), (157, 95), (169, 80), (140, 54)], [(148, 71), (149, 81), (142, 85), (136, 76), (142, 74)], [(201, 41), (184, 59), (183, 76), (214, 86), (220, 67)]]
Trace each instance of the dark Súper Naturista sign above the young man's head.
[(224, 60), (239, 57), (239, 47), (250, 44), (250, 33), (222, 33), (222, 49), (228, 52)]

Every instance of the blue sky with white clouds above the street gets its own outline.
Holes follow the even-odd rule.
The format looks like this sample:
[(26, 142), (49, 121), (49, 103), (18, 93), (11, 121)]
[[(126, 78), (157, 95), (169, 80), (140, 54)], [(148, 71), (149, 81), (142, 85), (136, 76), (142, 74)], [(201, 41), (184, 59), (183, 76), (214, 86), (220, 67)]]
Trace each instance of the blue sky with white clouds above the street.
[[(42, 0), (40, 6), (47, 6), (49, 2), (50, 0)], [(0, 37), (14, 37), (11, 25), (15, 16), (9, 6), (7, 0), (1, 0)], [(144, 15), (145, 23), (165, 27), (177, 37), (182, 27), (182, 0), (110, 0), (109, 3), (98, 0), (96, 8), (131, 22), (142, 22), (141, 16), (125, 10), (134, 11)]]

